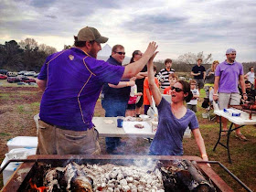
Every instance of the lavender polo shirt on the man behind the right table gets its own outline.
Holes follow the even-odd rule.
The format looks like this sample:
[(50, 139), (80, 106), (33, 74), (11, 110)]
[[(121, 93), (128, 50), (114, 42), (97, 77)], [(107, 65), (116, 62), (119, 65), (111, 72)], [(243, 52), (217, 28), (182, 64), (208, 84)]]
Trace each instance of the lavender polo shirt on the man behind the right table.
[(215, 76), (219, 76), (219, 92), (239, 92), (239, 76), (243, 75), (242, 64), (235, 61), (229, 64), (227, 60), (220, 63), (216, 70)]

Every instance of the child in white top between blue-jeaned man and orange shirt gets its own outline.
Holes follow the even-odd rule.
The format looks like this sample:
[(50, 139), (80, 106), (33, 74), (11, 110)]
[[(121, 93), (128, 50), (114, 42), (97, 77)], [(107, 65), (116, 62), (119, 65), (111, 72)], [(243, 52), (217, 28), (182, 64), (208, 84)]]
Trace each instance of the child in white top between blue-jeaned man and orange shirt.
[[(136, 80), (136, 78), (132, 78), (131, 80)], [(136, 101), (139, 101), (140, 98), (139, 96), (142, 96), (142, 92), (137, 92), (137, 85), (134, 84), (131, 87), (131, 92), (130, 92), (130, 99), (128, 101), (127, 105), (127, 110), (126, 110), (126, 116), (135, 116), (135, 108), (136, 108)]]

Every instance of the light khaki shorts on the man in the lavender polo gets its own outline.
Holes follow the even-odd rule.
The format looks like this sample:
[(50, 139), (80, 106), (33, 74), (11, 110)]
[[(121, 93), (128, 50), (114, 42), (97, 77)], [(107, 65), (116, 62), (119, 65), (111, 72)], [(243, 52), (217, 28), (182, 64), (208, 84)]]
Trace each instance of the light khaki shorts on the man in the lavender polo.
[(219, 110), (227, 109), (228, 105), (240, 105), (240, 94), (219, 92)]

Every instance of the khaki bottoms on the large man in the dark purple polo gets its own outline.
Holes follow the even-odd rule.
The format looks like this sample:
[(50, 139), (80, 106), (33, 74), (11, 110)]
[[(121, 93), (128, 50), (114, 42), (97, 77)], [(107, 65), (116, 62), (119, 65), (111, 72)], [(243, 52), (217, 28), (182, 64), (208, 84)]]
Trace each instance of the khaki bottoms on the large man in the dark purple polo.
[(99, 133), (60, 129), (41, 120), (38, 122), (37, 155), (99, 155)]

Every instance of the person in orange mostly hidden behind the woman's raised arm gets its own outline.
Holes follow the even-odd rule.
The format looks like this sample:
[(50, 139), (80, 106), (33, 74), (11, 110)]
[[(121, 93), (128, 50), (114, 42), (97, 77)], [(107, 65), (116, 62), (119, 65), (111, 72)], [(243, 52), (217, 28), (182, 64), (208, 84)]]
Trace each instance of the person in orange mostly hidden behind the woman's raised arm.
[[(154, 74), (156, 74), (156, 66), (154, 65)], [(155, 77), (155, 84), (159, 88), (159, 82)], [(148, 78), (144, 79), (144, 114), (147, 113), (149, 107), (152, 105), (152, 92), (149, 89)]]

